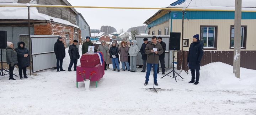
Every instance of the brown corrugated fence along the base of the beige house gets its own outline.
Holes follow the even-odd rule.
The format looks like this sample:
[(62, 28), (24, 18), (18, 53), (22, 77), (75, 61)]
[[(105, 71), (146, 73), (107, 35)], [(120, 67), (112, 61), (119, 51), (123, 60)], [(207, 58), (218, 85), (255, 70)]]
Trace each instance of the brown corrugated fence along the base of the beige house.
[[(177, 69), (181, 69), (182, 63), (182, 70), (188, 71), (187, 67), (187, 55), (188, 51), (183, 51), (183, 63), (181, 61), (182, 55), (181, 51), (178, 51), (177, 56)], [(233, 66), (233, 58), (234, 52), (233, 51), (204, 51), (201, 66), (212, 63), (212, 62), (223, 62), (228, 65)], [(256, 51), (241, 51), (241, 67), (246, 69), (256, 70)]]

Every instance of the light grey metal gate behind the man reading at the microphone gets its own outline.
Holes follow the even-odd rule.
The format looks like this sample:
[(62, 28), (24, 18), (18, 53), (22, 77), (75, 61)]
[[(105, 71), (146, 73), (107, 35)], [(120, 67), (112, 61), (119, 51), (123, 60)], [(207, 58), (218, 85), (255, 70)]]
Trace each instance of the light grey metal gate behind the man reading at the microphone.
[[(148, 41), (151, 41), (151, 37), (153, 35), (136, 35), (135, 40), (137, 41), (137, 45), (139, 48), (139, 54), (137, 56), (137, 65), (143, 65), (142, 62), (142, 55), (140, 54), (140, 48), (142, 44), (144, 43), (143, 39), (148, 38)], [(159, 36), (159, 35), (158, 35)], [(157, 36), (157, 37), (158, 37)], [(165, 51), (165, 67), (170, 68), (172, 67), (172, 52), (169, 52), (169, 35), (160, 35), (162, 37), (162, 41), (166, 44), (166, 51)], [(160, 66), (160, 65), (159, 65)]]

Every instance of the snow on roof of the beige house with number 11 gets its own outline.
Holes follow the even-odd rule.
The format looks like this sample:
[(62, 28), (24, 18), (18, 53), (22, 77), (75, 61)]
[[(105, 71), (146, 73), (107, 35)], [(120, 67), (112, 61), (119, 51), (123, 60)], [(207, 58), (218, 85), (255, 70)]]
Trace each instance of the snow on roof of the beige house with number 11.
[[(173, 6), (173, 4), (171, 4), (169, 7), (173, 7), (173, 8), (206, 7), (206, 6), (235, 7), (235, 0), (183, 0), (182, 2), (181, 2), (182, 4), (180, 5), (177, 4)], [(256, 7), (256, 0), (242, 0), (242, 7)]]

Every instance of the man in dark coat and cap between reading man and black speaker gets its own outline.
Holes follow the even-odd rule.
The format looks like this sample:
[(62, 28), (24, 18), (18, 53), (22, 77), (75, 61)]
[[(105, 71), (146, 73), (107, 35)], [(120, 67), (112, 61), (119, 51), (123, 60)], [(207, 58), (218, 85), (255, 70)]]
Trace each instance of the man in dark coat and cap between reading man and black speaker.
[[(159, 61), (160, 61), (160, 64), (161, 64), (161, 68), (162, 68), (162, 75), (165, 75), (165, 61), (164, 61), (164, 58), (165, 58), (165, 47), (166, 47), (166, 44), (165, 42), (162, 41), (162, 37), (158, 37), (158, 42), (160, 43), (160, 45), (162, 46), (163, 50), (164, 50), (164, 53), (162, 53), (161, 55), (159, 55)], [(157, 70), (157, 73), (159, 73), (159, 68)]]

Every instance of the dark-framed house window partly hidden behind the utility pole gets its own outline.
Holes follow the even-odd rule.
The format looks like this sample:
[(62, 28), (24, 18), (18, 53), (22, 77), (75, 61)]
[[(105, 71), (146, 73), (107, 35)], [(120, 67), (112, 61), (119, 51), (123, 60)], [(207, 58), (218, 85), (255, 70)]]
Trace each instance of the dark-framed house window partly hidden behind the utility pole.
[[(241, 49), (246, 49), (247, 26), (241, 26)], [(230, 28), (230, 49), (234, 49), (235, 27)]]

